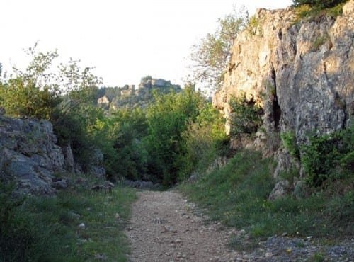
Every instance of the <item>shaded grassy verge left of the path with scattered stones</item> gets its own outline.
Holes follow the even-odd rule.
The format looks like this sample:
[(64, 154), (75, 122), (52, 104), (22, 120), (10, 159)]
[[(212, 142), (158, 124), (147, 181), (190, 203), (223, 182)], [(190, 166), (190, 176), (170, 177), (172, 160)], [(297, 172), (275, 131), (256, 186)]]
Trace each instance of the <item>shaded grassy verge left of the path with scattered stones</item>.
[[(3, 188), (4, 189), (4, 188)], [(62, 190), (14, 200), (1, 190), (0, 261), (126, 261), (122, 233), (135, 192)]]

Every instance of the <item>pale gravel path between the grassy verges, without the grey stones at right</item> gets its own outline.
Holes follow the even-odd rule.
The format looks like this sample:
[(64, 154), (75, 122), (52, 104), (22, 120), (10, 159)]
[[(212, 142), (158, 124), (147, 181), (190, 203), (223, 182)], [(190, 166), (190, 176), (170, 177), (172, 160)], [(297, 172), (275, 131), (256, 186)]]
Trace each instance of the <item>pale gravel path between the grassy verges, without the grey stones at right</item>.
[(139, 192), (126, 234), (131, 261), (234, 261), (227, 249), (231, 232), (217, 224), (203, 224), (178, 192)]

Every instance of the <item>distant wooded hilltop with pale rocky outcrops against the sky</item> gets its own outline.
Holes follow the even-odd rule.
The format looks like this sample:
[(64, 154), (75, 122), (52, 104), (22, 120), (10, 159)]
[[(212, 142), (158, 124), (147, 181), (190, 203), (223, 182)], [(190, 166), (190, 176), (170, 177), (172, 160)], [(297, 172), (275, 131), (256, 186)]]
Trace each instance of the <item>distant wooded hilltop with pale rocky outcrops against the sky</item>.
[(103, 87), (98, 91), (97, 106), (105, 110), (118, 108), (145, 108), (152, 101), (152, 90), (158, 89), (161, 93), (181, 91), (181, 86), (171, 84), (165, 79), (154, 79), (152, 76), (142, 77), (138, 88), (135, 85), (122, 87)]

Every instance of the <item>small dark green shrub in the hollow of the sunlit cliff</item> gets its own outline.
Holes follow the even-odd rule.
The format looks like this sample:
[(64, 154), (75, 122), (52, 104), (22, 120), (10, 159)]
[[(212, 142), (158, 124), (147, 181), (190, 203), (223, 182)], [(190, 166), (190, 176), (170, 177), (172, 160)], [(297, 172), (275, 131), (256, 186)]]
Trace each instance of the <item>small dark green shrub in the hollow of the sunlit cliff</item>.
[(229, 101), (231, 135), (253, 134), (262, 125), (262, 109), (255, 101), (247, 101), (246, 93), (240, 93)]

